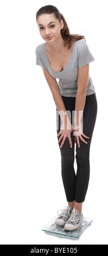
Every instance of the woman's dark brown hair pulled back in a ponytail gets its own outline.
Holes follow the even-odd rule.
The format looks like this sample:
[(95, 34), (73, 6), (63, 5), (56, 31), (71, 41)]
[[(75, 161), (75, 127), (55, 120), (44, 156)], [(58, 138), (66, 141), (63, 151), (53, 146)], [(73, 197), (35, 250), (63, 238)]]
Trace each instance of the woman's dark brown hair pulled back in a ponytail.
[(64, 40), (64, 47), (67, 46), (69, 50), (71, 48), (72, 42), (78, 41), (80, 39), (85, 40), (84, 35), (70, 34), (65, 18), (54, 5), (45, 5), (41, 7), (36, 13), (36, 22), (37, 22), (37, 18), (41, 14), (52, 14), (52, 13), (55, 14), (56, 19), (58, 19), (59, 21), (63, 20), (63, 28), (61, 29), (61, 36), (62, 36), (62, 39)]

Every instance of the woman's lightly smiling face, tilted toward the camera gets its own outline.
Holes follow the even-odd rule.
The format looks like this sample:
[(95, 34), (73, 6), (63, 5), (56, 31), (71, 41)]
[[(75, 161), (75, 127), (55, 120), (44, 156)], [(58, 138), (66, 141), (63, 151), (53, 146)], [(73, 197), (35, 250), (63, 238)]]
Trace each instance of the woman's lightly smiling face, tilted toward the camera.
[(54, 42), (61, 36), (63, 21), (56, 19), (54, 14), (42, 14), (37, 19), (40, 34), (46, 42)]

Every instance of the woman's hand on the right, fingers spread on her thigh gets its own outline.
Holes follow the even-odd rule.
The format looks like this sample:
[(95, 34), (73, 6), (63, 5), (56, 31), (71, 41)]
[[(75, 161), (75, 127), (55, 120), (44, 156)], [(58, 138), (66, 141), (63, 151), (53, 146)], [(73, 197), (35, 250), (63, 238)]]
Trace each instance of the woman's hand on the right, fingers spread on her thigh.
[[(76, 131), (75, 131), (75, 130), (76, 130)], [(77, 130), (78, 130), (78, 131), (77, 131)], [(84, 142), (84, 143), (87, 144), (87, 142), (85, 141), (84, 138), (82, 138), (82, 136), (85, 137), (85, 138), (87, 138), (87, 139), (89, 139), (89, 137), (86, 136), (86, 135), (82, 132), (82, 123), (81, 123), (81, 122), (79, 122), (79, 125), (78, 125), (78, 126), (75, 126), (75, 127), (74, 127), (74, 136), (75, 136), (74, 141), (75, 141), (75, 143), (78, 144), (78, 147), (79, 147), (79, 148), (80, 148), (79, 138), (81, 139), (82, 142)]]

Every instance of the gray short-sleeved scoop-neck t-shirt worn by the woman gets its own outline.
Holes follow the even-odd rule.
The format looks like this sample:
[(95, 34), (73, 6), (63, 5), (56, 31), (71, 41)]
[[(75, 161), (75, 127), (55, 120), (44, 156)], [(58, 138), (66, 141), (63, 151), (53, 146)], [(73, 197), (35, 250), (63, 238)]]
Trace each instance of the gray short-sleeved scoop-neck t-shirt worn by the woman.
[[(88, 48), (87, 43), (82, 39), (73, 42), (68, 63), (65, 69), (63, 69), (61, 72), (55, 72), (52, 70), (46, 52), (46, 42), (38, 45), (35, 53), (36, 65), (40, 65), (43, 69), (47, 69), (49, 74), (54, 78), (59, 78), (60, 93), (62, 96), (67, 97), (76, 97), (78, 89), (78, 68), (95, 60)], [(89, 75), (86, 95), (91, 95), (93, 93), (96, 93), (96, 91), (94, 89), (91, 76)]]

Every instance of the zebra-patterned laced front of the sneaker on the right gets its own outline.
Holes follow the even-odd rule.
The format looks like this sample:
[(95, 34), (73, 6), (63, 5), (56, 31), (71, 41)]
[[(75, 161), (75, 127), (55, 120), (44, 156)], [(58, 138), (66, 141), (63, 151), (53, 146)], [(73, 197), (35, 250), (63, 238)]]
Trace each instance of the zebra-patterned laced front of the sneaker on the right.
[(80, 222), (80, 217), (81, 217), (80, 212), (77, 212), (76, 209), (73, 209), (72, 214), (69, 217), (67, 223), (78, 224)]

